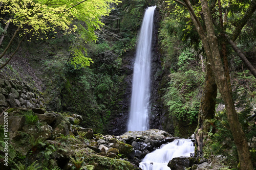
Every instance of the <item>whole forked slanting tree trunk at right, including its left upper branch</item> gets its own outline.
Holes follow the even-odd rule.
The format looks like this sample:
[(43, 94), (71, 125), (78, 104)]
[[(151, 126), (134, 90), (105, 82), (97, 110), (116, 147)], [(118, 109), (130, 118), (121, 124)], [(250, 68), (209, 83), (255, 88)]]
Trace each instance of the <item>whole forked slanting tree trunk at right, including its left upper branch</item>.
[(213, 70), (213, 74), (218, 86), (218, 89), (222, 95), (222, 99), (225, 104), (227, 118), (230, 126), (230, 130), (234, 139), (234, 142), (237, 146), (239, 161), (241, 165), (241, 169), (243, 170), (252, 170), (252, 161), (249, 152), (249, 147), (247, 144), (247, 140), (245, 134), (242, 130), (242, 126), (239, 123), (238, 115), (234, 108), (233, 100), (231, 93), (228, 88), (227, 79), (225, 76), (224, 68), (222, 65), (220, 52), (218, 48), (218, 39), (215, 36), (213, 22), (211, 20), (211, 14), (208, 8), (208, 3), (206, 0), (201, 0), (201, 7), (204, 14), (205, 26), (207, 37), (205, 37), (204, 29), (197, 18), (197, 15), (194, 12), (194, 9), (189, 0), (183, 0), (181, 2), (179, 0), (174, 0), (188, 9), (191, 20), (193, 21), (196, 30), (202, 40), (202, 44), (207, 55), (207, 59), (211, 68)]

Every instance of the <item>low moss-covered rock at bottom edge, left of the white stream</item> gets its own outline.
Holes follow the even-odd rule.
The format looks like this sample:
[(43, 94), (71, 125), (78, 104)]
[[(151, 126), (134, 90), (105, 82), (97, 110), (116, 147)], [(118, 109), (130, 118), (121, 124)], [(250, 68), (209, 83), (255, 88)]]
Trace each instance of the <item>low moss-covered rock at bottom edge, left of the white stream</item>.
[(103, 170), (103, 169), (123, 169), (123, 170), (135, 170), (138, 167), (135, 167), (128, 161), (109, 158), (100, 155), (88, 155), (86, 159), (84, 159), (89, 165), (94, 165), (94, 170)]

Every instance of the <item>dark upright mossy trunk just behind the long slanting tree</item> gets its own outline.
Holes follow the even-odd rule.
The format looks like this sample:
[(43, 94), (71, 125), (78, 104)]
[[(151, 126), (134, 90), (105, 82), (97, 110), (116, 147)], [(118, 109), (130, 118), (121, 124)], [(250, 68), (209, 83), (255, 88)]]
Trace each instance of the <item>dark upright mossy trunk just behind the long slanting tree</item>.
[(203, 87), (203, 94), (201, 98), (200, 110), (198, 114), (198, 127), (196, 129), (197, 155), (203, 154), (204, 138), (208, 127), (206, 126), (206, 119), (212, 119), (215, 116), (215, 104), (217, 96), (217, 85), (215, 78), (209, 64), (206, 65), (206, 76)]

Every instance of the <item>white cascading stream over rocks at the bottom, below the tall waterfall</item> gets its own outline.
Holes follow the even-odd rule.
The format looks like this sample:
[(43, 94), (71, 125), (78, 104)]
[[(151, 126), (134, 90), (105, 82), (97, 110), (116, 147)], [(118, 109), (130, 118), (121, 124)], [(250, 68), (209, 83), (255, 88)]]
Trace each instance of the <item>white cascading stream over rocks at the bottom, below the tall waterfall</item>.
[(163, 144), (160, 149), (147, 154), (140, 163), (143, 170), (170, 170), (168, 162), (175, 157), (194, 154), (195, 147), (190, 139), (178, 139)]

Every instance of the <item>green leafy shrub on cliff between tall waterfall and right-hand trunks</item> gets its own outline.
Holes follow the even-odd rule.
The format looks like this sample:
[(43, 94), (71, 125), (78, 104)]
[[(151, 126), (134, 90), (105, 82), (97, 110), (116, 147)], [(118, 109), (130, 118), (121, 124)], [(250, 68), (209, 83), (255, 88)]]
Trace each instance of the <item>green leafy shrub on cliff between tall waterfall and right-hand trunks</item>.
[(193, 123), (198, 116), (200, 106), (200, 90), (203, 85), (203, 74), (199, 71), (188, 70), (174, 72), (163, 96), (169, 114), (179, 120)]

